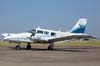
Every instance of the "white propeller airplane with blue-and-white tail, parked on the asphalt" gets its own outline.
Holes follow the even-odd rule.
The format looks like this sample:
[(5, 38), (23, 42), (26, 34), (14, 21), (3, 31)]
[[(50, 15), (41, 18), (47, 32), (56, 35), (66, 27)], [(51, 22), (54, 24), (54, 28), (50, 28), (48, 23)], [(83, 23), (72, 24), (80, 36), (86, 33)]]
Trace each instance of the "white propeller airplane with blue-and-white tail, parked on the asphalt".
[(4, 41), (16, 42), (16, 49), (20, 49), (21, 42), (27, 43), (27, 49), (31, 49), (31, 43), (49, 43), (48, 50), (54, 49), (54, 42), (64, 41), (64, 40), (73, 40), (73, 39), (83, 39), (89, 40), (95, 38), (92, 35), (84, 34), (87, 24), (86, 18), (80, 18), (75, 26), (67, 32), (47, 30), (41, 28), (32, 29), (29, 32), (23, 33), (2, 33), (4, 36)]

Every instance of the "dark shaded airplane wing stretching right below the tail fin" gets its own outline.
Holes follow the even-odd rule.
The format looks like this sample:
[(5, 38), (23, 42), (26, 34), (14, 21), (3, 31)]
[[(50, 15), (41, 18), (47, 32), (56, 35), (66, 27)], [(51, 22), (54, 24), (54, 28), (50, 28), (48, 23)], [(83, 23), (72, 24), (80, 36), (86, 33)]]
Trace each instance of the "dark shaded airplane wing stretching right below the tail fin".
[(64, 37), (58, 37), (58, 38), (49, 39), (49, 42), (57, 42), (57, 41), (73, 40), (73, 39), (89, 40), (89, 39), (94, 39), (94, 38), (96, 38), (96, 37), (91, 36), (91, 35), (71, 35), (71, 36), (64, 36)]

